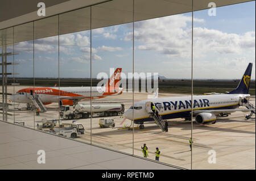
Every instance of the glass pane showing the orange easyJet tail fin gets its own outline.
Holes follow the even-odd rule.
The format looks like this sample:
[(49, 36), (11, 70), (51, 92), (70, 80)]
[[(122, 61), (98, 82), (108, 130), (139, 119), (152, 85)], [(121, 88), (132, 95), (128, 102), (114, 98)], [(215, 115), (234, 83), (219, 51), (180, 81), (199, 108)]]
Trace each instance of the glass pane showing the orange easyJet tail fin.
[[(132, 24), (120, 23), (132, 20), (132, 10), (133, 1), (92, 6), (92, 144), (130, 154), (133, 153), (133, 131), (129, 129), (132, 122), (122, 114), (133, 105), (133, 86), (127, 86), (132, 80), (129, 75), (132, 78), (133, 41), (125, 39)], [(98, 28), (112, 22), (119, 25)]]

